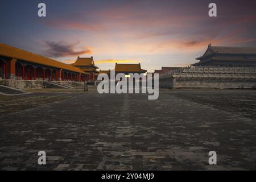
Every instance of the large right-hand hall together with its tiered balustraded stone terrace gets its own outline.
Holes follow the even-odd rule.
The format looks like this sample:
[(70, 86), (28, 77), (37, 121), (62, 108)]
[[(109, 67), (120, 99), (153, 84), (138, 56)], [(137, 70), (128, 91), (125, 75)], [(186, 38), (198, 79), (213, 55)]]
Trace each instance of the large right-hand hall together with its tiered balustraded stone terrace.
[(198, 63), (159, 74), (162, 88), (256, 88), (256, 48), (209, 44)]

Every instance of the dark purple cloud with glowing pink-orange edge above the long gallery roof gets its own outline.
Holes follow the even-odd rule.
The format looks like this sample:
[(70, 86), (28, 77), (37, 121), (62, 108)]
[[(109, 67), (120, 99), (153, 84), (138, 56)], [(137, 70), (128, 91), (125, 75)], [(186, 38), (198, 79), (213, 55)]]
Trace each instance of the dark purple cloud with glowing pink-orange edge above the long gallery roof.
[(75, 46), (79, 43), (69, 44), (65, 42), (46, 42), (45, 54), (49, 57), (72, 57), (92, 53), (88, 48), (82, 51), (75, 51)]

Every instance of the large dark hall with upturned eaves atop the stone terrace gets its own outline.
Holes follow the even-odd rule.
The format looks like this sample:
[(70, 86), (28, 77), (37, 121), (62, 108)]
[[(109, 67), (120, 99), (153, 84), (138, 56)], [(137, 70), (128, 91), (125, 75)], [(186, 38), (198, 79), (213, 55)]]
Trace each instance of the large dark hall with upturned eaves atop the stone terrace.
[(219, 47), (209, 44), (204, 55), (196, 58), (200, 60), (193, 65), (198, 66), (256, 66), (255, 47)]

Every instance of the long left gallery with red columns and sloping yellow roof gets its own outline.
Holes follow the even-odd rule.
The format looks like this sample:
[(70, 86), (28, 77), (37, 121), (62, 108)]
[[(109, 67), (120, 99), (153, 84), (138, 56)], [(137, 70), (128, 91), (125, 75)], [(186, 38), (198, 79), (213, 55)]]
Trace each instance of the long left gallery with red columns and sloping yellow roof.
[(90, 72), (0, 43), (0, 77), (11, 80), (85, 81)]

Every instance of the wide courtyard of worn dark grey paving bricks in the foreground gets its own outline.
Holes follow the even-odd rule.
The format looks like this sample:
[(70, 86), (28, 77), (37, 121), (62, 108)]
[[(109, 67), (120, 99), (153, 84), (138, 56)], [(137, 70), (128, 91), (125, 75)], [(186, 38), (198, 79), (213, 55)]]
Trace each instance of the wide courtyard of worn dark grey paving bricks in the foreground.
[(0, 96), (0, 169), (255, 170), (255, 103), (255, 90)]

